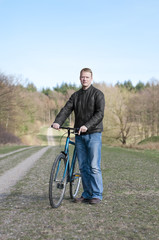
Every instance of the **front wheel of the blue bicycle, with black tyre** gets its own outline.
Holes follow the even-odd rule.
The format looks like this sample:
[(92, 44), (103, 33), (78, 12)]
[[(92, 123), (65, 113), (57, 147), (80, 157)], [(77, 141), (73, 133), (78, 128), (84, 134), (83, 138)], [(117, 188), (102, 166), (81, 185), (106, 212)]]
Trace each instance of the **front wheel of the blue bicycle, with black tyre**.
[(49, 181), (49, 200), (50, 205), (53, 208), (60, 206), (65, 190), (66, 190), (66, 181), (67, 181), (67, 172), (64, 176), (66, 168), (66, 157), (63, 153), (56, 157)]

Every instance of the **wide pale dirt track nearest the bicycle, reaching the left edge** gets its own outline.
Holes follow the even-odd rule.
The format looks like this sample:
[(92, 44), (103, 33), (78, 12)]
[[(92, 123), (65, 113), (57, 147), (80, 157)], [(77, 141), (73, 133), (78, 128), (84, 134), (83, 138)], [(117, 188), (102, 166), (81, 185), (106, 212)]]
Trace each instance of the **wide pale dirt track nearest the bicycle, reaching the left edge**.
[(10, 192), (10, 188), (26, 174), (26, 172), (38, 159), (40, 159), (49, 147), (50, 146), (42, 148), (32, 156), (26, 158), (23, 162), (19, 163), (16, 167), (6, 171), (0, 177), (0, 197), (3, 197)]

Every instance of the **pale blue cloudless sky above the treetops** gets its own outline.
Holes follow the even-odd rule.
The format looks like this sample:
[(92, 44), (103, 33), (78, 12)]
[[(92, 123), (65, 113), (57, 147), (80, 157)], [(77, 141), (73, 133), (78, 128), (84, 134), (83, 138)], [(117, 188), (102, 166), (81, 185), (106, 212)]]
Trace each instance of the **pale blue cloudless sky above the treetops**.
[(0, 0), (0, 71), (43, 87), (159, 79), (159, 0)]

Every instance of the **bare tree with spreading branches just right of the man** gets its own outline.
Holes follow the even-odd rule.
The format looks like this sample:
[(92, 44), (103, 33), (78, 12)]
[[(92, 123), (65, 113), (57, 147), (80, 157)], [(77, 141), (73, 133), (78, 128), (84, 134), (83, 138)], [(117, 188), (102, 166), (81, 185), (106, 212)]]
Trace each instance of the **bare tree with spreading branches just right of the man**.
[(105, 84), (96, 84), (105, 95), (106, 107), (104, 116), (104, 135), (107, 138), (119, 140), (126, 144), (130, 135), (131, 122), (129, 121), (127, 103), (131, 93), (127, 89), (107, 87)]

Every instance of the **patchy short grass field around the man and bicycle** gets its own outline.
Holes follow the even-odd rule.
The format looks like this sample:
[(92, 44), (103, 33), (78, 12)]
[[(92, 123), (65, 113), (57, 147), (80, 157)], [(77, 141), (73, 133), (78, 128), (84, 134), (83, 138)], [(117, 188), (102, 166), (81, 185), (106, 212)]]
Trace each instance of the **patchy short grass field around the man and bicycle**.
[(1, 240), (159, 239), (159, 152), (103, 146), (103, 201), (75, 204), (67, 191), (52, 209), (48, 182), (59, 151), (50, 148), (1, 200)]

